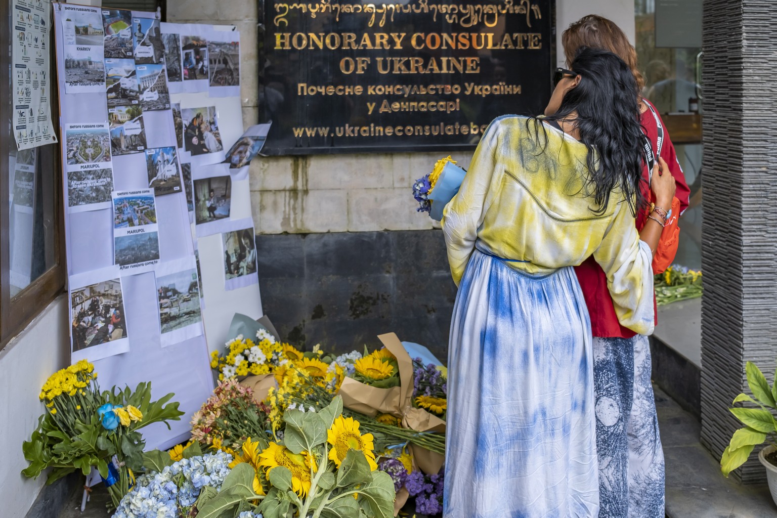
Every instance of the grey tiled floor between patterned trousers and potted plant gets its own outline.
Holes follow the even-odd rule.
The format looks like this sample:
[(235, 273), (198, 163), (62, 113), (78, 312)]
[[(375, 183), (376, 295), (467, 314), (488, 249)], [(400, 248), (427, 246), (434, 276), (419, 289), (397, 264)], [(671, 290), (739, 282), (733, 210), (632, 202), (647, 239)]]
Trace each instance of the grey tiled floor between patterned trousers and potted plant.
[(699, 422), (655, 390), (667, 464), (667, 517), (775, 518), (777, 506), (768, 486), (740, 485), (723, 477), (719, 462), (699, 443)]

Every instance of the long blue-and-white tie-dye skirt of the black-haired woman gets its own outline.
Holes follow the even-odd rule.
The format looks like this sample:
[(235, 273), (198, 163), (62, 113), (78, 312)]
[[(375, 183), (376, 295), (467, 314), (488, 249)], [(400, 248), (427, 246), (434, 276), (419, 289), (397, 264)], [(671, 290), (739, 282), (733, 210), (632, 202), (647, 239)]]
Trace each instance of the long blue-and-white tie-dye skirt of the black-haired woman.
[(591, 323), (573, 269), (475, 251), (451, 323), (445, 518), (598, 515)]

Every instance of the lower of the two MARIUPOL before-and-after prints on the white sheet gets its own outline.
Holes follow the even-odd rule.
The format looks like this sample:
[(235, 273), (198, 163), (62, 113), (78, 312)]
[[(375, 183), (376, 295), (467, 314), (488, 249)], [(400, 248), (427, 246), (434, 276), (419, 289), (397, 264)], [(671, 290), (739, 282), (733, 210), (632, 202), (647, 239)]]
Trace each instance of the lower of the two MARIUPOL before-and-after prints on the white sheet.
[(159, 225), (153, 189), (113, 192), (113, 256), (123, 275), (159, 263)]

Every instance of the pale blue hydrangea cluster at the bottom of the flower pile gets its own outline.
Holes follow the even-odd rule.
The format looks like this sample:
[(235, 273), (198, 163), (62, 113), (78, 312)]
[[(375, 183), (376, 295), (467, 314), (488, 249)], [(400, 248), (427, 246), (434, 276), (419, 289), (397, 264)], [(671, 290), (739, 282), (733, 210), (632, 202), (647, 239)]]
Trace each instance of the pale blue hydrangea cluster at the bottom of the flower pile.
[(219, 451), (177, 461), (161, 473), (141, 475), (121, 499), (113, 518), (177, 518), (179, 507), (192, 506), (204, 486), (221, 488), (230, 462), (232, 455)]

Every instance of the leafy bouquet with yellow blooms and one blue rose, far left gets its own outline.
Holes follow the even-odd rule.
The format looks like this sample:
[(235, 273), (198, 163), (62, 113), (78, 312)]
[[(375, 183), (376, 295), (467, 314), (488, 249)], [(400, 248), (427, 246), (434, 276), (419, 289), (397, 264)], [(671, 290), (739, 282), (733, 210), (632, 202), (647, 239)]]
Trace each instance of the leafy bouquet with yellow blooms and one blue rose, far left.
[(86, 360), (57, 371), (40, 391), (47, 411), (22, 446), (30, 463), (23, 475), (37, 478), (52, 468), (51, 484), (74, 471), (88, 475), (97, 468), (116, 507), (131, 487), (133, 470), (142, 467), (145, 441), (138, 430), (183, 415), (178, 403), (167, 404), (171, 398), (152, 402), (148, 383), (134, 391), (100, 391), (94, 366)]

